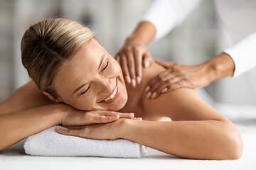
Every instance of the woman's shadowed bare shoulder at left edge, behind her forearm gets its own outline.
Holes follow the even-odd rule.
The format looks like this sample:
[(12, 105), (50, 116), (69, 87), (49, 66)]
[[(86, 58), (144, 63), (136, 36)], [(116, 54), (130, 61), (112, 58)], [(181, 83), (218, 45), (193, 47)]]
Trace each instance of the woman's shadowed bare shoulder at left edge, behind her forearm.
[(13, 113), (54, 103), (38, 89), (33, 81), (21, 86), (0, 103), (0, 113)]

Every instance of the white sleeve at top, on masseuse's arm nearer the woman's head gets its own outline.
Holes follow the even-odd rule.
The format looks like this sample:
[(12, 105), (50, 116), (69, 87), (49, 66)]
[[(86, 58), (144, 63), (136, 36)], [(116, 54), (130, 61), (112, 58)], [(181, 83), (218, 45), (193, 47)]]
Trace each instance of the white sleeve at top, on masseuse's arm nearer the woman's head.
[(182, 23), (189, 12), (201, 0), (155, 0), (144, 13), (141, 21), (149, 21), (156, 27), (154, 40), (159, 40), (175, 26)]

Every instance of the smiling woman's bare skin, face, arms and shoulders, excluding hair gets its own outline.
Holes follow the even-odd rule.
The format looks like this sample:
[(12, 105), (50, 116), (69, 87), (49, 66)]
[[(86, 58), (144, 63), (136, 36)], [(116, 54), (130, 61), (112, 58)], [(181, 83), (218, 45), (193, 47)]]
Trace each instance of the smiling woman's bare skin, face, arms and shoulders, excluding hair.
[[(107, 58), (99, 68), (102, 56)], [(119, 64), (96, 40), (92, 40), (63, 64), (53, 80), (59, 98), (47, 94), (54, 99), (49, 101), (31, 83), (0, 104), (0, 137), (4, 139), (0, 147), (4, 149), (28, 135), (61, 124), (69, 128), (56, 129), (63, 135), (97, 140), (123, 138), (188, 159), (239, 159), (242, 155), (242, 139), (238, 130), (227, 118), (208, 106), (193, 89), (177, 89), (152, 100), (146, 98), (143, 89), (150, 79), (164, 70), (164, 67), (152, 62), (149, 67), (142, 69), (144, 77), (139, 86), (124, 84)], [(86, 82), (91, 89), (80, 97), (73, 95), (74, 89)], [(112, 103), (99, 103), (112, 94), (116, 82), (120, 91), (116, 100)], [(83, 88), (87, 89), (87, 84), (78, 94), (85, 91)], [(23, 98), (23, 103), (16, 102), (14, 98)], [(33, 102), (31, 99), (34, 98), (38, 98), (38, 101)], [(17, 108), (13, 110), (11, 106), (14, 105)], [(93, 114), (87, 116), (87, 113), (99, 113), (81, 111), (86, 109), (132, 112), (135, 117), (143, 120), (124, 114), (127, 117), (99, 123), (95, 119), (101, 117), (93, 119)], [(166, 117), (169, 121), (160, 121)]]

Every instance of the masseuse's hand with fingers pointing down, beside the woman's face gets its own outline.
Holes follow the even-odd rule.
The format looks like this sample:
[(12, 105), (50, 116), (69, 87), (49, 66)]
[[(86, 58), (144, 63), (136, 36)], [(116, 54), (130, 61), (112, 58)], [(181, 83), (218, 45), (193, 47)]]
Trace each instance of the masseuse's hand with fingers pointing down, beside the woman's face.
[(132, 83), (133, 87), (142, 80), (142, 66), (149, 67), (152, 60), (146, 46), (139, 44), (124, 45), (115, 58), (121, 66), (125, 80), (128, 84)]

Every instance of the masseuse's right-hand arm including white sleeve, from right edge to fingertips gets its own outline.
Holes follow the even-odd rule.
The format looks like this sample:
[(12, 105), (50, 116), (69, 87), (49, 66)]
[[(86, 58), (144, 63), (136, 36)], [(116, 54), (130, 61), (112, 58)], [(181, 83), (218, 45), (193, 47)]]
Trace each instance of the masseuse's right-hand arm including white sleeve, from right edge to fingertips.
[[(198, 65), (158, 62), (166, 68), (164, 72), (149, 81), (148, 98), (156, 98), (181, 87), (198, 88), (223, 77), (238, 77), (256, 67), (256, 33), (224, 50), (217, 57)], [(149, 90), (150, 89), (150, 90)]]

